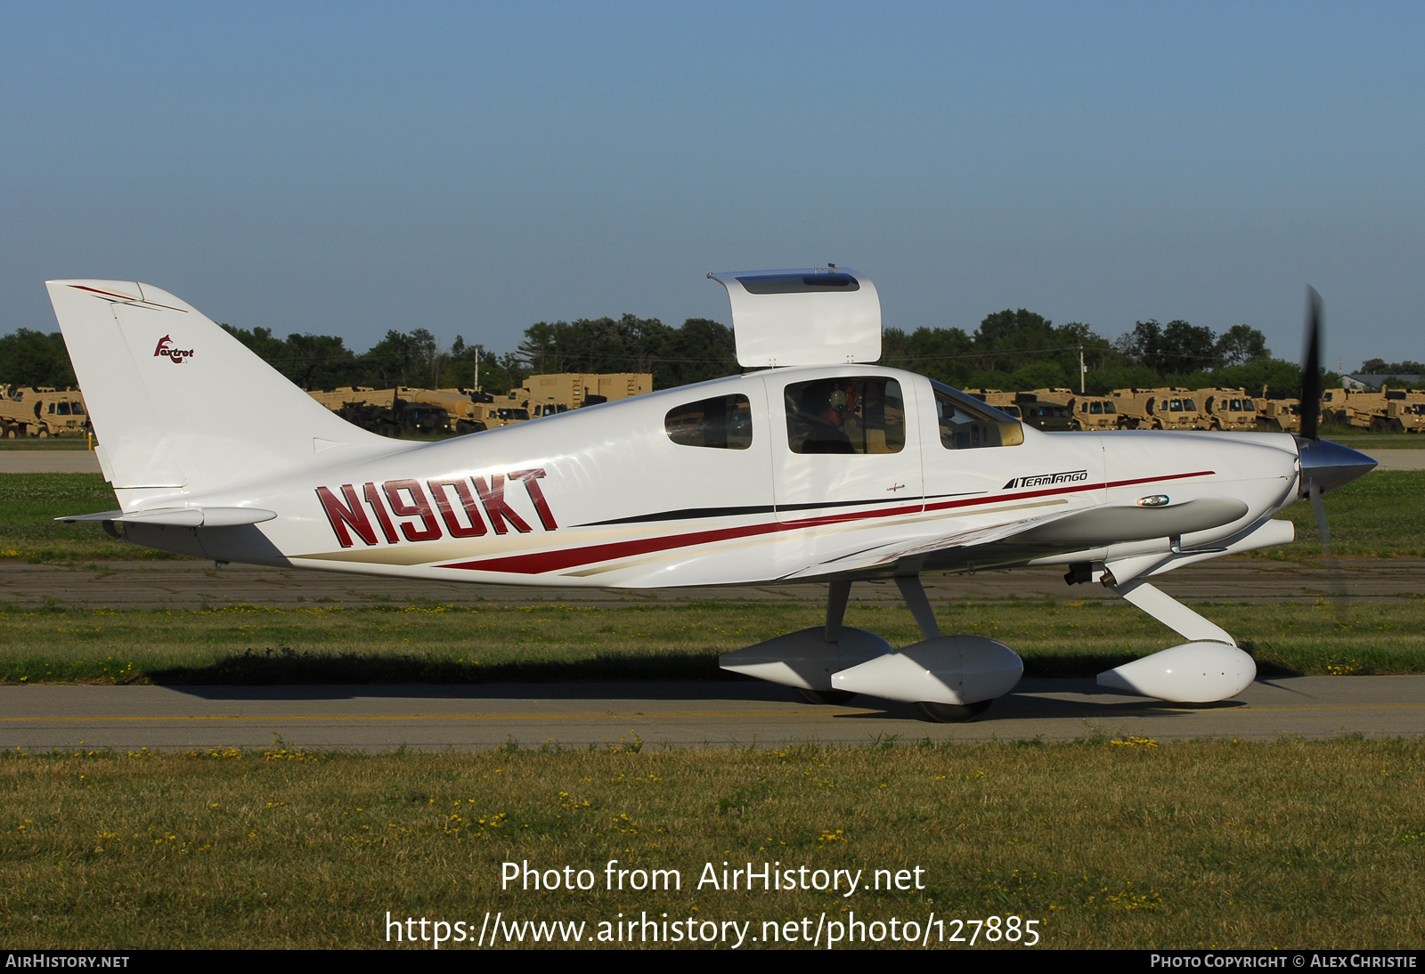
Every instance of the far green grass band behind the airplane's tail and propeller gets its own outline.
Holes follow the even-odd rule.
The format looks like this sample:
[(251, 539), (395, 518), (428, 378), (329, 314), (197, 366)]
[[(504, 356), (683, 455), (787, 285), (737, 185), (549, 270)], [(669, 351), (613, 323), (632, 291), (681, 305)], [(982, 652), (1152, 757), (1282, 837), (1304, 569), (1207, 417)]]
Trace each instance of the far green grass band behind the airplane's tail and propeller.
[[(1425, 440), (1422, 440), (1425, 443)], [(1425, 470), (1385, 470), (1325, 496), (1331, 540), (1344, 557), (1425, 557)], [(118, 507), (100, 474), (0, 476), (0, 560), (36, 564), (180, 558), (117, 541), (98, 524), (61, 524), (56, 517)], [(1282, 511), (1297, 541), (1260, 557), (1320, 558), (1310, 504)]]

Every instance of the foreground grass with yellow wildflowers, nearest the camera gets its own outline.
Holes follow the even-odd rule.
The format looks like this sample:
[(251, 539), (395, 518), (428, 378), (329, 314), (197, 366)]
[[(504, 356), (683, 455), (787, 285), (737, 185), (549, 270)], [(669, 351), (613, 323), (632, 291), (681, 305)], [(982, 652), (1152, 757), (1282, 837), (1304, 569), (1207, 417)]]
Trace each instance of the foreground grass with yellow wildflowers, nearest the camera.
[[(0, 937), (11, 950), (370, 948), (388, 946), (388, 911), (473, 924), (472, 941), (486, 911), (581, 920), (587, 937), (647, 911), (751, 921), (758, 943), (744, 948), (757, 948), (768, 921), (933, 911), (1036, 920), (1047, 948), (1414, 950), (1422, 775), (1421, 740), (1349, 738), (10, 752)], [(608, 860), (678, 870), (681, 889), (607, 890)], [(502, 890), (506, 862), (587, 869), (596, 889)], [(923, 889), (700, 890), (705, 864), (724, 862), (868, 883), (921, 869)]]

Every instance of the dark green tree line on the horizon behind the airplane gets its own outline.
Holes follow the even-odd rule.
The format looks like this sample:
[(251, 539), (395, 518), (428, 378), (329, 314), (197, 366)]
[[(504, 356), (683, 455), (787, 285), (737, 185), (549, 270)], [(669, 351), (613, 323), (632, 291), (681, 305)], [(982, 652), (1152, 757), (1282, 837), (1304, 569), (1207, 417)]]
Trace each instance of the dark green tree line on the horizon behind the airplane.
[[(346, 347), (335, 335), (284, 339), (266, 328), (222, 328), (302, 389), (470, 389), (477, 362), (479, 384), (494, 394), (517, 389), (534, 373), (648, 372), (656, 389), (670, 389), (740, 372), (732, 329), (704, 318), (678, 328), (634, 315), (536, 322), (524, 329), (516, 350), (503, 353), (467, 345), (462, 336), (442, 346), (423, 328), (388, 330), (365, 352)], [(1257, 394), (1267, 387), (1273, 396), (1295, 396), (1301, 389), (1298, 366), (1274, 359), (1263, 333), (1248, 325), (1217, 335), (1184, 320), (1161, 325), (1150, 319), (1109, 340), (1089, 325), (1054, 325), (1023, 308), (988, 315), (973, 332), (888, 328), (881, 362), (960, 389), (1079, 389), (1080, 352), (1090, 394), (1124, 386), (1243, 386)], [(1406, 365), (1419, 367), (1389, 363), (1381, 372), (1395, 366), (1405, 372)], [(1340, 376), (1327, 373), (1324, 380), (1338, 384)], [(0, 383), (74, 386), (60, 333), (19, 329), (0, 337)]]

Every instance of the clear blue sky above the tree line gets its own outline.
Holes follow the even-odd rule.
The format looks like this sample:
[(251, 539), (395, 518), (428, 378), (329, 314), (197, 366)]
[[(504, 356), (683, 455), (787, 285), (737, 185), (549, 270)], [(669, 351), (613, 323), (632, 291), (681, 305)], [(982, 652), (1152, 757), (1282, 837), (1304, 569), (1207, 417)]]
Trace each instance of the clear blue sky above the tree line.
[(1425, 359), (1421, 4), (0, 6), (0, 332), (140, 279), (365, 349), (728, 320), (836, 262), (885, 323), (1029, 308)]

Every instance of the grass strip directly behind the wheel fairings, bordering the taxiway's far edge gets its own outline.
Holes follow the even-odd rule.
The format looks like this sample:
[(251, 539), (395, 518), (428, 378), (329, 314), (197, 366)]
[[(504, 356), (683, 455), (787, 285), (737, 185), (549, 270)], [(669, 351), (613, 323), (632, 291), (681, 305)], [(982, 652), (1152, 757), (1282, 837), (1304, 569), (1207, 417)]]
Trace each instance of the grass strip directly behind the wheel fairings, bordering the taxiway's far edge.
[[(1263, 674), (1425, 672), (1425, 599), (1197, 607)], [(91, 609), (0, 605), (0, 684), (482, 684), (728, 679), (721, 652), (815, 627), (817, 605), (705, 602), (620, 608)], [(1183, 642), (1119, 602), (952, 604), (946, 632), (1000, 639), (1026, 676), (1092, 676)], [(919, 641), (903, 607), (852, 605), (848, 625)]]

